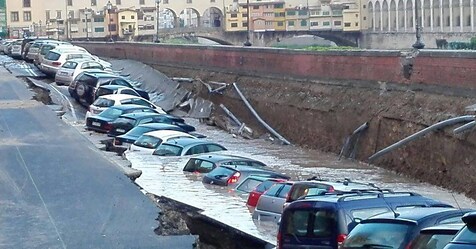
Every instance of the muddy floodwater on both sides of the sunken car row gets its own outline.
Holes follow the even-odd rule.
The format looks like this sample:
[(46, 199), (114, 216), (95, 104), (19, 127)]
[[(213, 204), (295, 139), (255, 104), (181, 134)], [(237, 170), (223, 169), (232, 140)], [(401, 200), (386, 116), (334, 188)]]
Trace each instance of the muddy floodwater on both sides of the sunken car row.
[[(195, 125), (197, 132), (205, 134), (207, 139), (223, 144), (229, 150), (226, 153), (260, 160), (294, 180), (311, 176), (329, 180), (350, 178), (355, 181), (372, 182), (382, 188), (417, 192), (454, 206), (476, 208), (476, 202), (462, 194), (452, 193), (447, 189), (372, 165), (339, 160), (334, 154), (280, 145), (269, 139), (247, 140), (217, 127), (198, 123), (194, 119), (188, 119), (187, 122)], [(142, 170), (142, 175), (136, 183), (145, 191), (195, 206), (204, 210), (203, 214), (207, 216), (275, 243), (276, 224), (252, 220), (251, 213), (245, 205), (245, 196), (237, 195), (225, 187), (202, 184), (200, 175), (182, 172), (188, 157), (158, 157), (137, 152), (127, 152), (126, 157), (133, 168)]]

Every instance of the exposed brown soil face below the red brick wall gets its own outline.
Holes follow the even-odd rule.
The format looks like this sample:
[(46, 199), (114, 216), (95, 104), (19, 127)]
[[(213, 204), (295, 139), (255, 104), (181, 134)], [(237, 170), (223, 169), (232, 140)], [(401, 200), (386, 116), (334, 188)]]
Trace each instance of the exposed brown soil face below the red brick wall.
[[(476, 103), (476, 97), (457, 96), (454, 94), (457, 91), (450, 88), (446, 95), (406, 90), (401, 85), (396, 87), (383, 82), (335, 84), (183, 68), (157, 69), (170, 77), (236, 82), (266, 122), (293, 144), (303, 147), (337, 154), (346, 137), (361, 124), (369, 122), (369, 129), (357, 146), (356, 158), (361, 161), (367, 161), (376, 151), (429, 125), (466, 115), (464, 108)], [(228, 87), (223, 95), (208, 94), (201, 83), (194, 84), (191, 90), (215, 104), (224, 104), (253, 128), (254, 136), (266, 132), (233, 87)], [(214, 114), (214, 119), (224, 115), (220, 108), (215, 108)], [(453, 135), (452, 129), (456, 127), (431, 133), (374, 163), (476, 198), (473, 184), (476, 181), (476, 133)]]

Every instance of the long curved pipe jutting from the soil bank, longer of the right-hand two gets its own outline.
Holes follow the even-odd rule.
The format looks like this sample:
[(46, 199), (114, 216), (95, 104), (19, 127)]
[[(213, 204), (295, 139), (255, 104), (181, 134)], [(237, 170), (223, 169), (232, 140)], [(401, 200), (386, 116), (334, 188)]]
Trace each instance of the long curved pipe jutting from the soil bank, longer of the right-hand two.
[(377, 153), (373, 154), (372, 156), (369, 157), (369, 162), (372, 162), (373, 160), (409, 143), (409, 142), (412, 142), (413, 140), (416, 140), (420, 137), (423, 137), (425, 136), (426, 134), (434, 131), (434, 130), (438, 130), (438, 129), (441, 129), (441, 128), (444, 128), (446, 126), (450, 126), (450, 125), (454, 125), (454, 124), (457, 124), (457, 123), (462, 123), (462, 122), (469, 122), (469, 121), (474, 121), (474, 119), (476, 118), (475, 115), (466, 115), (466, 116), (460, 116), (460, 117), (456, 117), (456, 118), (450, 118), (450, 119), (447, 119), (447, 120), (444, 120), (444, 121), (441, 121), (441, 122), (438, 122), (434, 125), (431, 125), (413, 135), (410, 135), (380, 151), (378, 151)]

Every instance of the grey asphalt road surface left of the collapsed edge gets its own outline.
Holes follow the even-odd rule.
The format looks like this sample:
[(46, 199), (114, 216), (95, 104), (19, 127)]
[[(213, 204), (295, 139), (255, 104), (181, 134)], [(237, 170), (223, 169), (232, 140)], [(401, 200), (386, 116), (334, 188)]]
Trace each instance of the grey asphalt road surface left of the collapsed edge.
[(192, 248), (157, 236), (155, 204), (32, 96), (0, 68), (0, 248)]

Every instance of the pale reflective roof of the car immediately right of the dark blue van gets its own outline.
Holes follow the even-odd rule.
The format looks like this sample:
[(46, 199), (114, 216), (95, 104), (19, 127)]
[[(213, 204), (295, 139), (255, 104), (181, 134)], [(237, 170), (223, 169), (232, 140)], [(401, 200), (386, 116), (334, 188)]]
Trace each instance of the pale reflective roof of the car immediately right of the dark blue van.
[(409, 221), (419, 221), (426, 218), (429, 218), (433, 215), (438, 215), (442, 213), (458, 213), (461, 212), (468, 212), (469, 210), (461, 210), (457, 208), (448, 208), (448, 207), (415, 207), (415, 208), (408, 208), (408, 209), (401, 209), (397, 210), (396, 214), (398, 215), (395, 218), (394, 212), (385, 212), (382, 214), (378, 214), (375, 216), (370, 217), (366, 221), (371, 222), (372, 220), (382, 220), (382, 219), (398, 219), (398, 220), (409, 220)]

